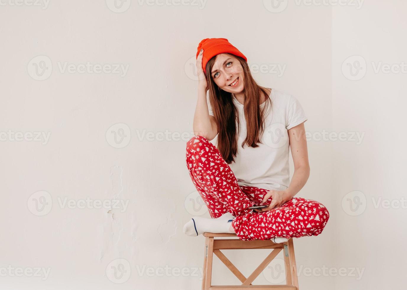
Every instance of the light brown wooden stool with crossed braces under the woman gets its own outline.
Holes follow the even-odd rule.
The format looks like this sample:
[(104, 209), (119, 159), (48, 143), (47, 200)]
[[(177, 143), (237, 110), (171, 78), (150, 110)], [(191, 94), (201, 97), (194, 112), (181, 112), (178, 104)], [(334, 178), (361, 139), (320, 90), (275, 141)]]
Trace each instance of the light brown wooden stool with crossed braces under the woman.
[[(205, 237), (205, 254), (204, 254), (204, 272), (202, 277), (202, 290), (209, 289), (274, 289), (274, 290), (298, 290), (297, 266), (295, 265), (293, 239), (287, 242), (276, 244), (271, 240), (255, 239), (252, 241), (242, 241), (241, 239), (214, 239), (214, 237), (236, 237), (236, 234), (230, 233), (204, 233)], [(284, 248), (284, 265), (285, 278), (287, 285), (252, 285), (254, 279), (267, 267), (267, 265), (277, 256)], [(264, 259), (264, 261), (246, 278), (232, 264), (229, 259), (223, 255), (220, 250), (229, 249), (274, 249)], [(213, 254), (232, 271), (232, 273), (242, 282), (239, 286), (212, 286), (212, 257)]]

